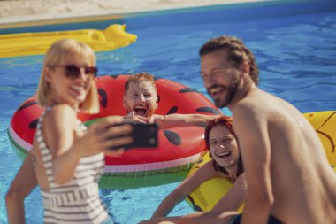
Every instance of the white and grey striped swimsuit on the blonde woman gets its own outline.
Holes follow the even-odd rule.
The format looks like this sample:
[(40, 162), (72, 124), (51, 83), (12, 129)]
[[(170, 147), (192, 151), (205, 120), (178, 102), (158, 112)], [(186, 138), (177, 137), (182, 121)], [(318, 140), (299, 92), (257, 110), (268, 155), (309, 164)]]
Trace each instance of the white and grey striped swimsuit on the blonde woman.
[[(45, 112), (50, 111), (47, 107)], [(106, 223), (109, 214), (99, 197), (98, 181), (103, 174), (103, 153), (80, 158), (73, 179), (57, 184), (52, 174), (52, 155), (42, 135), (42, 113), (36, 130), (36, 139), (42, 153), (50, 189), (42, 191), (44, 223)], [(86, 127), (78, 120), (80, 128)]]

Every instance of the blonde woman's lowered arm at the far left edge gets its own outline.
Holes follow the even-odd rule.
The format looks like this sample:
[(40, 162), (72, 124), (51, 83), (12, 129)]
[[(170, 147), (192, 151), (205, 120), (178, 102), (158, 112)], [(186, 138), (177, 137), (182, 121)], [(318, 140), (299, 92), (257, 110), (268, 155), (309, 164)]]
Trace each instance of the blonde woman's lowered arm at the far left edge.
[(31, 152), (28, 153), (6, 194), (9, 223), (25, 223), (24, 199), (37, 185), (32, 157)]

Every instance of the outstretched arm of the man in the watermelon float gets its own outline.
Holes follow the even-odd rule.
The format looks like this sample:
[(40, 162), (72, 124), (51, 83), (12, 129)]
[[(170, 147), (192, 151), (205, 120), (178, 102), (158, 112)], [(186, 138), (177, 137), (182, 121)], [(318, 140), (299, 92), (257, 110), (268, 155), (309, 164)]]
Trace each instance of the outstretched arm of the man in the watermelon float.
[(173, 113), (168, 115), (153, 115), (153, 122), (157, 123), (160, 128), (171, 128), (181, 126), (206, 126), (210, 120), (222, 116), (221, 114), (179, 114)]

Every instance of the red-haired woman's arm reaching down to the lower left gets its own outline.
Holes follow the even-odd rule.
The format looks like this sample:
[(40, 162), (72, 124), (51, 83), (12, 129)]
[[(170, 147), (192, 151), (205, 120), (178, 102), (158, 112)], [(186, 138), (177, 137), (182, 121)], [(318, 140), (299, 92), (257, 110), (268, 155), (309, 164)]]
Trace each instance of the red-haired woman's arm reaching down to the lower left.
[(212, 162), (208, 162), (199, 168), (195, 174), (187, 178), (177, 189), (174, 189), (172, 193), (164, 198), (162, 203), (157, 207), (157, 210), (153, 213), (152, 219), (168, 215), (175, 205), (178, 205), (179, 202), (185, 199), (194, 189), (201, 185), (202, 182), (205, 182), (216, 175)]

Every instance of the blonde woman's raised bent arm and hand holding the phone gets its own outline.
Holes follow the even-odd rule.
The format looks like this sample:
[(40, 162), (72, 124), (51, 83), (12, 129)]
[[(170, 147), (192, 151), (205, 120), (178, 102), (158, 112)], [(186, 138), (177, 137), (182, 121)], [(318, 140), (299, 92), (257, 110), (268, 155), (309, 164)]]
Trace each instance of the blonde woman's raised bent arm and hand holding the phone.
[(132, 131), (130, 126), (111, 127), (119, 122), (119, 119), (111, 117), (99, 120), (88, 128), (85, 135), (76, 133), (78, 129), (76, 120), (75, 112), (66, 104), (54, 106), (43, 120), (43, 135), (53, 156), (52, 168), (55, 182), (59, 184), (73, 178), (80, 158), (99, 152), (118, 156), (121, 151), (107, 149), (132, 142), (130, 136), (110, 139), (112, 136), (126, 135)]

